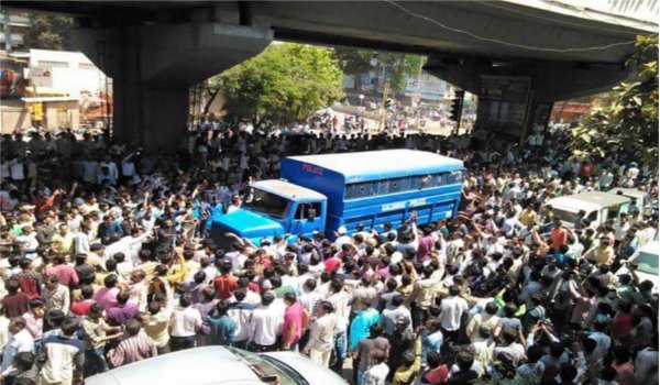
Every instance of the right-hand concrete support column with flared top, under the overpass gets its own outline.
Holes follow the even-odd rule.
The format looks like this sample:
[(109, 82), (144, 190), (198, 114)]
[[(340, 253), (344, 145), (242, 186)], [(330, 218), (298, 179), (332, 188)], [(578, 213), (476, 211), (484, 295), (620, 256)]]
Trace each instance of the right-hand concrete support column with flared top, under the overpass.
[(425, 69), (477, 95), (476, 124), (519, 143), (548, 122), (554, 101), (607, 90), (630, 75), (618, 64), (480, 56), (430, 57)]

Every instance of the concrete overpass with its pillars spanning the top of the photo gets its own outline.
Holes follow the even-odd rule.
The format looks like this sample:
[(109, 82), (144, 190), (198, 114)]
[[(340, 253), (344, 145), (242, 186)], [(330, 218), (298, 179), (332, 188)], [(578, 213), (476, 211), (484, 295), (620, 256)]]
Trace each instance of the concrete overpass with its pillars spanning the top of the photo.
[[(518, 92), (525, 100), (517, 101), (525, 117), (517, 123), (526, 128), (538, 106), (593, 94), (624, 79), (635, 36), (657, 33), (658, 0), (609, 0), (601, 9), (575, 3), (580, 2), (3, 4), (76, 16), (80, 51), (113, 78), (117, 135), (152, 148), (172, 148), (187, 121), (188, 87), (258, 54), (273, 40), (425, 54), (426, 69), (474, 94), (493, 84), (484, 75), (513, 82), (525, 79), (527, 88)], [(495, 84), (519, 86), (512, 81)]]

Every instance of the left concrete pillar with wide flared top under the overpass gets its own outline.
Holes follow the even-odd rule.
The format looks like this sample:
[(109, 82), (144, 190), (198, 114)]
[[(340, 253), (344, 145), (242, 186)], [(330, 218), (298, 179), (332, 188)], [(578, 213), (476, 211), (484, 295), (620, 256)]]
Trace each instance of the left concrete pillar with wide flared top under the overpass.
[(146, 150), (174, 151), (185, 132), (190, 86), (261, 53), (263, 21), (78, 29), (77, 45), (112, 77), (113, 134)]

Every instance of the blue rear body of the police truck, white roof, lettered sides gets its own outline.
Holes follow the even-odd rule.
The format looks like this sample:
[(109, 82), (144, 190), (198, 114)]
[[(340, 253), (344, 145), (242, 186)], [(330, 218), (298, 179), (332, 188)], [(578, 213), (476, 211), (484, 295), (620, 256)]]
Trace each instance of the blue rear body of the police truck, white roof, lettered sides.
[(345, 227), (395, 228), (417, 211), (419, 224), (455, 216), (463, 162), (414, 150), (292, 156), (282, 163), (284, 179), (328, 197), (324, 232)]

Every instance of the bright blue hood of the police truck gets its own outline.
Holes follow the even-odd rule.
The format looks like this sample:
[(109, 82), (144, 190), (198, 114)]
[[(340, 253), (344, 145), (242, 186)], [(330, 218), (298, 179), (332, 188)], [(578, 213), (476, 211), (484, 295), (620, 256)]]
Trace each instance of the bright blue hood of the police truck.
[(215, 221), (243, 238), (273, 237), (284, 233), (284, 228), (279, 222), (244, 209), (218, 216)]

